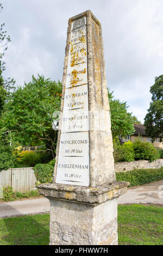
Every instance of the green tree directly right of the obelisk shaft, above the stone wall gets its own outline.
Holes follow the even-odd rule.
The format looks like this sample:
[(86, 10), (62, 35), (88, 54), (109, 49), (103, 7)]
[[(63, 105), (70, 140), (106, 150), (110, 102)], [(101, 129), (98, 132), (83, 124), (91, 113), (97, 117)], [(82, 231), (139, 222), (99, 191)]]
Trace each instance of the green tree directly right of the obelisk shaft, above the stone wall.
[(113, 92), (109, 92), (109, 104), (111, 112), (111, 131), (113, 139), (116, 136), (125, 137), (134, 133), (133, 118), (131, 113), (127, 112), (127, 103), (114, 99)]

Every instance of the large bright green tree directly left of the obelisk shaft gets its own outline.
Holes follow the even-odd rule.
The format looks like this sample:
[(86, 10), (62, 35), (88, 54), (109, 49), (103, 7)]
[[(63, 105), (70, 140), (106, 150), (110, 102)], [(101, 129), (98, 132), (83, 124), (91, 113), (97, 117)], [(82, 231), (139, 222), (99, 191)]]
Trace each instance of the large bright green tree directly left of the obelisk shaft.
[(1, 134), (8, 131), (21, 145), (43, 144), (55, 157), (58, 132), (52, 123), (53, 113), (60, 111), (61, 89), (59, 81), (32, 76), (32, 81), (18, 87), (5, 103)]

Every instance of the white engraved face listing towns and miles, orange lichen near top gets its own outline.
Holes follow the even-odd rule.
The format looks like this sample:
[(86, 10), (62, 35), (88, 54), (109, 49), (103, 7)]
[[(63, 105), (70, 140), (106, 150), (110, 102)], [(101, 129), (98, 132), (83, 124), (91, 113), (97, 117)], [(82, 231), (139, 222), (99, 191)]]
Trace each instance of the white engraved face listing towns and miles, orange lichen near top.
[(56, 182), (89, 186), (86, 17), (72, 22)]

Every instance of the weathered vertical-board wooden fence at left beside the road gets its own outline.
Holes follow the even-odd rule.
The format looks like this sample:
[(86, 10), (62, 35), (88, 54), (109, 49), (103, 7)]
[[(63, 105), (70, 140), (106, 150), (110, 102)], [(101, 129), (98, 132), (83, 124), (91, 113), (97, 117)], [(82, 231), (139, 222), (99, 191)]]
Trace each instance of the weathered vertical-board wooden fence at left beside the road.
[(0, 186), (11, 186), (14, 192), (29, 192), (36, 189), (36, 176), (32, 167), (10, 168), (0, 172)]

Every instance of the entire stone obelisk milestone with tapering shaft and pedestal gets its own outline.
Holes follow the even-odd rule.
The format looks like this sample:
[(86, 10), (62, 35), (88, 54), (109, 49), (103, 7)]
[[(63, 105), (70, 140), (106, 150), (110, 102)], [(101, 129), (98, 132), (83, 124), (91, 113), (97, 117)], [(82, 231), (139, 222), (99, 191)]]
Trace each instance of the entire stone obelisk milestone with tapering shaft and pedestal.
[(117, 245), (116, 181), (101, 23), (90, 10), (68, 21), (51, 202), (50, 245)]

